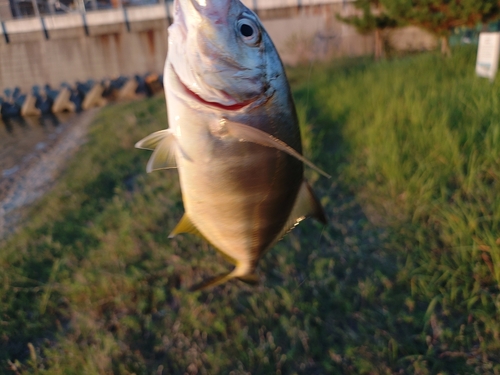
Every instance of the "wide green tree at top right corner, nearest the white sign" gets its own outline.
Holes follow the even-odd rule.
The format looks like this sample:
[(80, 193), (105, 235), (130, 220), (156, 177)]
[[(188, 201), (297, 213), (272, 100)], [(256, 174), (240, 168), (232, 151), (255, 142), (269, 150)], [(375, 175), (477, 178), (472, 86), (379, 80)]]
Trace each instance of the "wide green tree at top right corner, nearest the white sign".
[(380, 0), (401, 23), (424, 28), (441, 39), (443, 55), (451, 54), (448, 38), (456, 27), (476, 26), (500, 17), (499, 0)]

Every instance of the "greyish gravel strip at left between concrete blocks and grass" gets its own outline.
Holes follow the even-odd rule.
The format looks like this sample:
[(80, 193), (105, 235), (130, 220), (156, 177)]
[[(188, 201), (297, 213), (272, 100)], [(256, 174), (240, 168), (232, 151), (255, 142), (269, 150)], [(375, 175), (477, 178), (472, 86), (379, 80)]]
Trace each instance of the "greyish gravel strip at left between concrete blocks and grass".
[[(42, 135), (20, 134), (0, 150), (0, 239), (22, 223), (24, 208), (47, 192), (85, 143), (97, 109), (82, 112)], [(39, 132), (38, 127), (32, 128)], [(20, 130), (20, 133), (23, 129)], [(4, 138), (9, 141), (9, 139)]]

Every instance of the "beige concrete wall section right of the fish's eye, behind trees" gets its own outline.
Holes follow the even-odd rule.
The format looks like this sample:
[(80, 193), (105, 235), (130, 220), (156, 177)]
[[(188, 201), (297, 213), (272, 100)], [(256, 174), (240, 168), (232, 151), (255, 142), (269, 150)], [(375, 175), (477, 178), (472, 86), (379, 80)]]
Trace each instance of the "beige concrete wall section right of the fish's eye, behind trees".
[[(373, 54), (373, 33), (360, 35), (354, 27), (336, 18), (337, 14), (347, 17), (357, 13), (359, 10), (352, 2), (259, 10), (259, 16), (263, 19), (281, 58), (286, 64), (292, 65)], [(436, 48), (433, 35), (412, 26), (386, 30), (384, 38), (388, 47), (397, 51)]]

